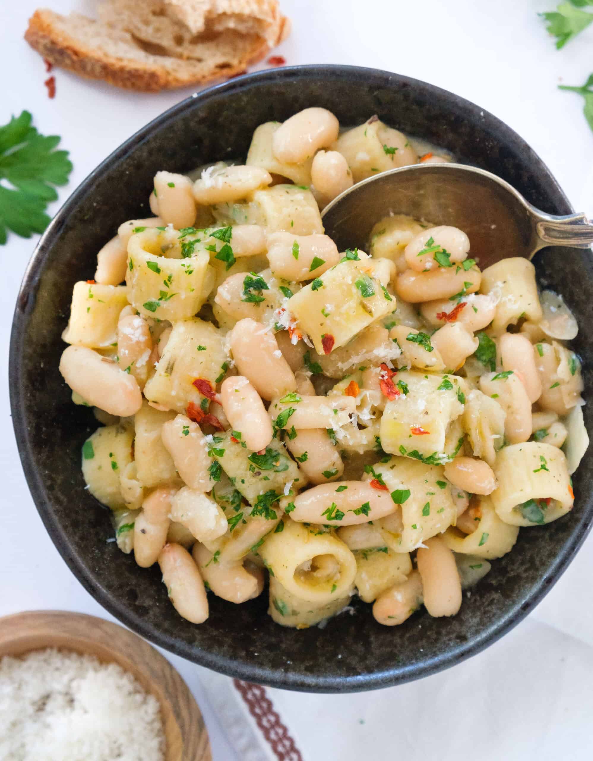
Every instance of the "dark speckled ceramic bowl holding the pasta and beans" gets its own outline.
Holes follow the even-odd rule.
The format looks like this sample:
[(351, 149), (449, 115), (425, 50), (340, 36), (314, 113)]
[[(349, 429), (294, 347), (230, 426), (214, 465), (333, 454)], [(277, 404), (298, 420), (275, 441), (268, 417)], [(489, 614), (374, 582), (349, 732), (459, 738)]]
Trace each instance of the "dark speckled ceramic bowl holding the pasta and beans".
[[(591, 523), (593, 458), (575, 476), (576, 508), (546, 527), (522, 530), (506, 557), (465, 600), (458, 616), (412, 616), (379, 626), (371, 607), (354, 605), (325, 629), (296, 631), (266, 615), (267, 595), (243, 605), (211, 599), (211, 616), (193, 626), (176, 613), (157, 567), (141, 570), (106, 543), (109, 514), (84, 490), (81, 445), (97, 422), (71, 403), (58, 371), (71, 287), (87, 279), (95, 255), (125, 219), (144, 217), (156, 170), (184, 172), (245, 155), (252, 132), (309, 106), (343, 124), (374, 113), (403, 132), (448, 148), (461, 161), (498, 174), (539, 209), (572, 212), (540, 158), (490, 113), (467, 100), (388, 72), (303, 66), (262, 72), (184, 100), (141, 129), (75, 191), (40, 240), (17, 301), (10, 387), (14, 428), (33, 499), (55, 546), (87, 591), (138, 634), (233, 677), (287, 689), (348, 692), (425, 677), (463, 661), (508, 632), (566, 569)], [(509, 251), (512, 255), (512, 251)], [(542, 285), (560, 291), (581, 326), (591, 324), (591, 254), (547, 249), (535, 260)], [(575, 349), (591, 387), (593, 333)], [(590, 423), (590, 406), (585, 419)], [(502, 665), (502, 664), (501, 664)]]

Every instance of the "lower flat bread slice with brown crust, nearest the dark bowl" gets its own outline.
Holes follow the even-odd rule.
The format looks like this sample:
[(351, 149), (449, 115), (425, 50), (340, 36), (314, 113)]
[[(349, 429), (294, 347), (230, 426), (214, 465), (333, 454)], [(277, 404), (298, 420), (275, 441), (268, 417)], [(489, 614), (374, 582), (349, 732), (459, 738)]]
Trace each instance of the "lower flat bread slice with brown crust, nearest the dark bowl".
[[(138, 5), (143, 8), (144, 2)], [(146, 5), (151, 2), (148, 0)], [(278, 15), (275, 44), (283, 38), (283, 30), (287, 30), (286, 20)], [(179, 24), (179, 33), (189, 36), (188, 27)], [(227, 28), (223, 32), (205, 33), (200, 41), (193, 40), (191, 57), (184, 56), (179, 45), (176, 55), (170, 55), (162, 41), (151, 43), (121, 27), (79, 14), (61, 16), (47, 9), (36, 11), (29, 19), (25, 40), (56, 66), (120, 88), (147, 92), (242, 74), (248, 65), (265, 58), (272, 47), (260, 34)]]

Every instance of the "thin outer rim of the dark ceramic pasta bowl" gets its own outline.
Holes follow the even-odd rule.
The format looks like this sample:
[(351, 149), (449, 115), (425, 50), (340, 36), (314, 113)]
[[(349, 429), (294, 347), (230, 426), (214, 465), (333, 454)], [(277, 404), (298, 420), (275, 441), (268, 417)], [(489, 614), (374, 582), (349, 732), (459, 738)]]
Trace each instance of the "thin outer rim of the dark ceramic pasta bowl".
[(165, 635), (154, 629), (150, 624), (145, 624), (140, 616), (132, 613), (125, 606), (125, 603), (110, 597), (109, 593), (103, 588), (90, 568), (84, 565), (84, 562), (78, 558), (76, 552), (71, 546), (68, 535), (62, 530), (52, 513), (52, 504), (49, 495), (43, 485), (43, 478), (37, 469), (35, 456), (31, 447), (30, 438), (27, 432), (24, 414), (24, 394), (21, 392), (21, 379), (23, 376), (22, 363), (22, 342), (23, 335), (30, 308), (36, 294), (37, 282), (40, 279), (40, 270), (43, 262), (55, 241), (59, 238), (65, 218), (68, 217), (71, 209), (74, 209), (79, 200), (87, 193), (88, 187), (94, 183), (94, 179), (103, 175), (109, 170), (111, 165), (125, 158), (125, 155), (133, 151), (144, 139), (147, 139), (154, 130), (159, 129), (171, 120), (175, 120), (189, 110), (199, 107), (211, 99), (216, 99), (220, 95), (230, 94), (234, 91), (242, 90), (246, 85), (257, 84), (258, 82), (274, 81), (278, 87), (282, 82), (292, 78), (296, 79), (319, 79), (319, 78), (338, 78), (341, 80), (360, 80), (366, 81), (366, 84), (393, 84), (405, 86), (408, 88), (421, 88), (423, 91), (439, 97), (446, 97), (451, 104), (452, 110), (457, 108), (463, 110), (465, 115), (470, 115), (477, 122), (480, 122), (485, 128), (496, 130), (501, 136), (503, 142), (512, 142), (521, 149), (525, 161), (531, 161), (538, 170), (546, 177), (550, 188), (550, 194), (555, 196), (558, 212), (563, 214), (573, 213), (572, 206), (566, 198), (563, 190), (560, 188), (557, 180), (551, 174), (544, 161), (535, 153), (535, 151), (525, 142), (515, 130), (506, 125), (501, 119), (493, 116), (487, 110), (477, 106), (465, 98), (462, 98), (443, 88), (427, 82), (407, 77), (404, 75), (387, 72), (377, 68), (367, 68), (362, 66), (350, 65), (299, 65), (277, 69), (266, 69), (262, 72), (243, 75), (233, 78), (223, 84), (216, 84), (203, 91), (195, 92), (184, 100), (179, 101), (170, 109), (164, 111), (151, 122), (135, 132), (119, 148), (116, 148), (107, 156), (90, 174), (78, 185), (78, 187), (68, 196), (68, 199), (61, 206), (55, 217), (50, 222), (48, 228), (41, 236), (35, 250), (31, 256), (30, 262), (24, 272), (23, 281), (19, 290), (14, 318), (11, 330), (11, 342), (9, 353), (9, 392), (11, 401), (11, 413), (14, 425), (14, 434), (17, 441), (17, 448), (21, 457), (24, 475), (27, 480), (30, 494), (36, 505), (37, 511), (46, 527), (49, 537), (58, 549), (60, 555), (65, 560), (66, 565), (71, 572), (78, 578), (82, 586), (89, 594), (94, 597), (109, 613), (116, 619), (128, 626), (132, 631), (146, 638), (149, 642), (165, 648), (182, 658), (200, 664), (203, 667), (210, 668), (219, 673), (224, 673), (230, 677), (236, 677), (247, 682), (254, 682), (268, 686), (274, 686), (281, 689), (293, 689), (303, 692), (315, 693), (346, 693), (359, 692), (369, 689), (381, 689), (395, 684), (406, 683), (411, 680), (420, 679), (449, 668), (455, 664), (465, 661), (467, 658), (480, 653), (480, 651), (492, 645), (496, 640), (509, 632), (513, 626), (521, 622), (528, 613), (543, 599), (550, 591), (553, 584), (560, 578), (569, 563), (576, 555), (579, 547), (585, 541), (591, 524), (585, 525), (581, 532), (573, 532), (563, 545), (563, 550), (559, 552), (550, 571), (545, 578), (541, 578), (538, 585), (533, 588), (531, 595), (519, 607), (509, 606), (508, 612), (487, 626), (483, 631), (467, 642), (453, 645), (451, 644), (447, 651), (442, 654), (428, 658), (421, 664), (413, 666), (401, 666), (394, 664), (386, 670), (373, 671), (362, 675), (352, 674), (347, 677), (323, 676), (316, 674), (296, 674), (287, 673), (280, 668), (272, 669), (269, 667), (260, 667), (256, 662), (236, 661), (233, 658), (213, 654), (204, 651), (201, 648), (192, 647), (185, 642), (180, 642), (173, 636)]

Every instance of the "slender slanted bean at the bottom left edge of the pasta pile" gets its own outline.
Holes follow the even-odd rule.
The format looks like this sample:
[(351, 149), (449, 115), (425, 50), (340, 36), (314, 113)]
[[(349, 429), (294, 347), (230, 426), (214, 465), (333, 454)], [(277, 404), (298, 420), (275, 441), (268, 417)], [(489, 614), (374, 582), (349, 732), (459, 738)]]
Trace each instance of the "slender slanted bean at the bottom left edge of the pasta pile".
[(203, 623), (208, 618), (208, 597), (198, 566), (179, 544), (167, 544), (159, 556), (163, 584), (182, 618)]

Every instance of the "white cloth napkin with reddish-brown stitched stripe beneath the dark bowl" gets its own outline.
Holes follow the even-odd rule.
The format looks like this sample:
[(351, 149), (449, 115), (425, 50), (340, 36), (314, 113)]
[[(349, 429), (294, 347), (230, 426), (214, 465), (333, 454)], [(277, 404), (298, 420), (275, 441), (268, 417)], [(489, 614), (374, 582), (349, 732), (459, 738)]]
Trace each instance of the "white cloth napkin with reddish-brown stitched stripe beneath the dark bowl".
[(452, 669), (371, 693), (243, 683), (250, 708), (233, 680), (200, 677), (242, 761), (593, 757), (593, 648), (534, 618)]

